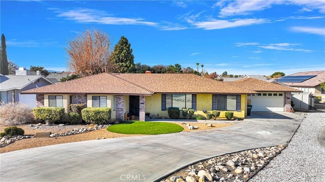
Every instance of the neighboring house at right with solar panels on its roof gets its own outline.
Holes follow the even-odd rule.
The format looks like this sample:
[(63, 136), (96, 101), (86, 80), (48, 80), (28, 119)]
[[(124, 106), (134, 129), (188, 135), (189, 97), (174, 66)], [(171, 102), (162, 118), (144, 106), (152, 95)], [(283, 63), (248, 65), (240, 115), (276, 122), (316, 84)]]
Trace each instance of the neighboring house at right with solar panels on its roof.
[(325, 82), (325, 70), (297, 72), (296, 74), (281, 77), (273, 82), (278, 82), (301, 92), (293, 93), (294, 108), (309, 109), (312, 105), (312, 96), (320, 96), (325, 99), (325, 90), (320, 87), (321, 82)]

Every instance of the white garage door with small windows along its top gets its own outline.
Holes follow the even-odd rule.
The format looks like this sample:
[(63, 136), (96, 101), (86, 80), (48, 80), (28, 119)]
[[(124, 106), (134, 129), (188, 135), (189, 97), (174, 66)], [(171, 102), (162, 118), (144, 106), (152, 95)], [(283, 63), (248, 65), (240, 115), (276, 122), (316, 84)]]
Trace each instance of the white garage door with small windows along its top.
[(253, 105), (252, 111), (260, 112), (283, 112), (284, 93), (260, 93), (258, 95), (248, 95)]

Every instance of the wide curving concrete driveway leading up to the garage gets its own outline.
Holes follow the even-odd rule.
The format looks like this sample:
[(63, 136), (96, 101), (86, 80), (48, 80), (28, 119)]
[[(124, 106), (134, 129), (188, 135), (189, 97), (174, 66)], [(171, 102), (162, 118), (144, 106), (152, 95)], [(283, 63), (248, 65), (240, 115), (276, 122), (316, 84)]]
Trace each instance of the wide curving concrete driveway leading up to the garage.
[(1, 181), (154, 181), (206, 158), (285, 144), (301, 113), (252, 113), (206, 131), (81, 141), (1, 154)]

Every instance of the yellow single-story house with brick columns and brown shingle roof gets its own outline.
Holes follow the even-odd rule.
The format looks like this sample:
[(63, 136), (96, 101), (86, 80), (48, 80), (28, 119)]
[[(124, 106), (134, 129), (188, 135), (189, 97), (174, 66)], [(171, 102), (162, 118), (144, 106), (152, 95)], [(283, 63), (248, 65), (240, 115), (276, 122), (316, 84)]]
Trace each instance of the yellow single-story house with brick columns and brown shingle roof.
[[(230, 84), (232, 83), (232, 84)], [(98, 74), (76, 80), (24, 91), (37, 94), (37, 106), (63, 106), (69, 113), (70, 103), (83, 103), (87, 107), (111, 107), (112, 120), (123, 120), (124, 113), (145, 120), (145, 113), (168, 118), (169, 107), (193, 108), (195, 116), (205, 117), (204, 110), (234, 112), (235, 118), (247, 115), (247, 95), (259, 97), (272, 94), (282, 101), (282, 112), (290, 111), (290, 92), (299, 90), (287, 86), (245, 79), (242, 82), (219, 82), (194, 74)], [(253, 97), (253, 96), (251, 96)], [(271, 100), (272, 100), (271, 99)], [(269, 99), (261, 111), (273, 111)], [(260, 101), (252, 101), (258, 108)], [(280, 105), (276, 105), (277, 107)]]

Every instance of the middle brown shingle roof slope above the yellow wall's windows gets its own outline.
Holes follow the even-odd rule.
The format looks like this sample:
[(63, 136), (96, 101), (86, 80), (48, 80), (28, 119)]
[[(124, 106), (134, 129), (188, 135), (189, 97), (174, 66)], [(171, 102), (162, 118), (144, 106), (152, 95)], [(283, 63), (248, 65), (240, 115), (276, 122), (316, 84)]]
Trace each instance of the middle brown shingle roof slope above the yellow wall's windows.
[(194, 74), (114, 74), (155, 93), (256, 93)]

